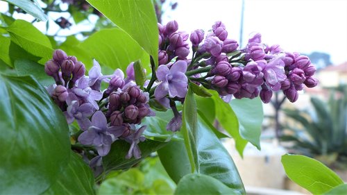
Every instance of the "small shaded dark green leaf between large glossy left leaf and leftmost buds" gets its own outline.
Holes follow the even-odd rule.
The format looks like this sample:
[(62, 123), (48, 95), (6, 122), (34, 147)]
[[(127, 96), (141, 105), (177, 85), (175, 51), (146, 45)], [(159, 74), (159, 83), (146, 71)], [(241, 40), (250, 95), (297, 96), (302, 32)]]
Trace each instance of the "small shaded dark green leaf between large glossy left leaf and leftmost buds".
[(31, 75), (41, 85), (48, 86), (56, 83), (51, 76), (47, 76), (42, 65), (30, 60), (16, 60), (15, 69), (18, 76)]

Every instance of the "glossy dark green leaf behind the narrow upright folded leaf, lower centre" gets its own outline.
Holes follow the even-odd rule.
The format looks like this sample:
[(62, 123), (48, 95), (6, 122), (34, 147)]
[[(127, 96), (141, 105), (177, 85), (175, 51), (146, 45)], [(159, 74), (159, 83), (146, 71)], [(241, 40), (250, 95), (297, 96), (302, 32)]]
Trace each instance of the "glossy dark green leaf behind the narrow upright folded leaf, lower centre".
[[(244, 193), (237, 167), (223, 144), (202, 119), (198, 120), (197, 129), (196, 147), (200, 173), (212, 176), (224, 185)], [(176, 183), (186, 174), (192, 173), (183, 142), (170, 142), (158, 154), (167, 173)]]

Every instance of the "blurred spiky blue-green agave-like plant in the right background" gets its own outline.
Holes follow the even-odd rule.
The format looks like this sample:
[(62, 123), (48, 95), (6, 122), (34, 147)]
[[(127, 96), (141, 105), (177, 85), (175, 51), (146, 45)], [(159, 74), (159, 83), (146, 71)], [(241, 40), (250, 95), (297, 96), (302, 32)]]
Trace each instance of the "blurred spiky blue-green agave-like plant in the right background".
[(347, 146), (347, 101), (331, 96), (328, 103), (312, 97), (314, 110), (284, 110), (285, 114), (298, 121), (301, 128), (287, 126), (291, 135), (282, 137), (294, 141), (294, 149), (307, 155), (346, 155)]

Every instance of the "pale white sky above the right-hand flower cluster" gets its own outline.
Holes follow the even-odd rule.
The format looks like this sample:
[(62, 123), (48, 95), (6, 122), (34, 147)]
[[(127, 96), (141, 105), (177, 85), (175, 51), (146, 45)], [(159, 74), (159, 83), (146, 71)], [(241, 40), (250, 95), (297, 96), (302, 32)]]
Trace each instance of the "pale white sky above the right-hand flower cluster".
[[(169, 1), (169, 0), (167, 0)], [(228, 38), (239, 41), (242, 0), (171, 0), (176, 10), (163, 22), (176, 19), (180, 31), (208, 31), (214, 22), (226, 24)], [(330, 54), (338, 65), (347, 61), (347, 0), (244, 0), (243, 44), (253, 32), (262, 42), (285, 51)]]

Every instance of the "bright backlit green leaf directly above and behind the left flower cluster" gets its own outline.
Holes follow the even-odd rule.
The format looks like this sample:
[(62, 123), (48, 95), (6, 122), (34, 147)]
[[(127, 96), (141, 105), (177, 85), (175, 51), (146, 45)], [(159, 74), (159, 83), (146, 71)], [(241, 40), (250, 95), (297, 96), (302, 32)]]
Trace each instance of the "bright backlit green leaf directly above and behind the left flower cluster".
[(119, 28), (103, 29), (94, 33), (78, 47), (90, 53), (90, 59), (95, 58), (101, 65), (112, 69), (125, 71), (130, 62), (139, 59), (144, 68), (150, 69), (146, 51)]

